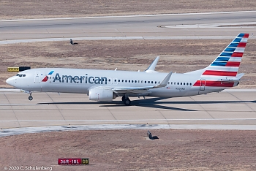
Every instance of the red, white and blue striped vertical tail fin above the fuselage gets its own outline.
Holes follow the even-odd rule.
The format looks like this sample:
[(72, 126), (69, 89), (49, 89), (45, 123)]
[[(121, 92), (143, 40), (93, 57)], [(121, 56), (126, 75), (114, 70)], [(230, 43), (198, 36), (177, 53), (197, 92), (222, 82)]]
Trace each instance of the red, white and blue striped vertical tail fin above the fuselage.
[(236, 77), (249, 34), (238, 34), (208, 66), (203, 75)]

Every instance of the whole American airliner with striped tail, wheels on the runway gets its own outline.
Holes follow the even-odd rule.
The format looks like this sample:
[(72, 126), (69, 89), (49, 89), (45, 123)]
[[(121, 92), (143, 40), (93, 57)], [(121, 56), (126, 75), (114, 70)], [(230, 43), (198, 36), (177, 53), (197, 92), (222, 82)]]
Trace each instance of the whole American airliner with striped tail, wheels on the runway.
[(155, 71), (159, 56), (143, 72), (38, 68), (19, 72), (6, 83), (29, 93), (33, 91), (88, 94), (89, 100), (111, 102), (120, 96), (130, 105), (129, 96), (162, 98), (195, 96), (219, 92), (238, 86), (243, 73), (238, 74), (249, 34), (238, 34), (230, 45), (206, 68), (183, 74)]

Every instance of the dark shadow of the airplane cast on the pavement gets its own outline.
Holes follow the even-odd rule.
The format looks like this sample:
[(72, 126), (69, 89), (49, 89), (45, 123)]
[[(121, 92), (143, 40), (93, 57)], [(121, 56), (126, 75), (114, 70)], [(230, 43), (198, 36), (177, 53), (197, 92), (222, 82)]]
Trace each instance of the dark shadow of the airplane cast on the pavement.
[[(132, 101), (132, 106), (138, 107), (150, 107), (165, 110), (180, 110), (180, 111), (197, 111), (179, 107), (167, 107), (161, 104), (220, 104), (220, 103), (256, 103), (255, 101), (187, 101), (187, 102), (161, 102), (165, 98), (151, 98), (151, 99), (137, 99)], [(49, 102), (38, 104), (102, 104), (99, 107), (123, 107), (124, 104), (121, 101), (113, 102)]]

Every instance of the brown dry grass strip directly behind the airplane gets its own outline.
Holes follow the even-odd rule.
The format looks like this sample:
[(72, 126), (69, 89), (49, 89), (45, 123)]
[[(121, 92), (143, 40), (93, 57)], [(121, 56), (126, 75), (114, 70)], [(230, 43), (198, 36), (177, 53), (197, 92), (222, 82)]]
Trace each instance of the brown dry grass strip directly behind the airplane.
[[(0, 45), (0, 88), (11, 88), (5, 80), (16, 72), (8, 66), (69, 67), (143, 71), (157, 56), (159, 72), (191, 72), (203, 69), (230, 43), (231, 39), (202, 40), (93, 40), (31, 42)], [(245, 73), (236, 88), (256, 88), (256, 39), (249, 39), (239, 68)]]

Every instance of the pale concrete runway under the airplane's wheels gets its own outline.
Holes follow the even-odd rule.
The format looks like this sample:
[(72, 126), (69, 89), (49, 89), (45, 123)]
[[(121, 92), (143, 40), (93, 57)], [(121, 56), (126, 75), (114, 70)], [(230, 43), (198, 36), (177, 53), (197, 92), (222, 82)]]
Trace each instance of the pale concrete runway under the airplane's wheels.
[(256, 125), (255, 89), (172, 99), (133, 98), (132, 106), (124, 106), (121, 99), (104, 103), (89, 101), (86, 94), (34, 93), (33, 97), (29, 101), (28, 94), (1, 91), (1, 129), (99, 124), (164, 127), (210, 124), (211, 129), (214, 126), (218, 129), (221, 124), (243, 129)]

